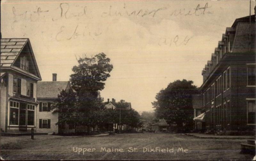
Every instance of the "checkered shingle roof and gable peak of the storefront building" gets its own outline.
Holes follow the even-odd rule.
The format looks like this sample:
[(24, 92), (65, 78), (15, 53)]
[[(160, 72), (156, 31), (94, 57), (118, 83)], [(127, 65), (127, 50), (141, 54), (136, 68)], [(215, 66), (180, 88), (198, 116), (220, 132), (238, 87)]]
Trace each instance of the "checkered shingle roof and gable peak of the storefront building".
[[(21, 54), (29, 56), (29, 60), (31, 60), (30, 65), (33, 66), (33, 68), (30, 69), (33, 70), (33, 73), (22, 70), (14, 65)], [(1, 39), (0, 57), (0, 67), (2, 71), (11, 69), (33, 77), (37, 81), (42, 80), (29, 39)]]

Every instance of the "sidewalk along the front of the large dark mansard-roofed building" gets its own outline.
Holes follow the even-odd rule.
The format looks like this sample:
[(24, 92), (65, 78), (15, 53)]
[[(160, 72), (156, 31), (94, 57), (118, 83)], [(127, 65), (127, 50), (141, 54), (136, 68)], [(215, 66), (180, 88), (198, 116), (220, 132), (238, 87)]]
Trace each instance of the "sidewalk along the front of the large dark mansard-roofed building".
[(204, 138), (204, 139), (254, 139), (254, 136), (230, 136), (230, 135), (213, 135), (213, 134), (199, 134), (199, 133), (187, 133), (185, 135)]

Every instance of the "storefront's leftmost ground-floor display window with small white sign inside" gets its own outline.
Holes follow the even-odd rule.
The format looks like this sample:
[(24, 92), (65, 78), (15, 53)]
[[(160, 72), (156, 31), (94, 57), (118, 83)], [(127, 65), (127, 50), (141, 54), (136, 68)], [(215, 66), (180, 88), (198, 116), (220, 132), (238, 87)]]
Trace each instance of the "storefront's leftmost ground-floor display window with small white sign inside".
[(19, 107), (19, 102), (10, 101), (10, 125), (19, 125)]

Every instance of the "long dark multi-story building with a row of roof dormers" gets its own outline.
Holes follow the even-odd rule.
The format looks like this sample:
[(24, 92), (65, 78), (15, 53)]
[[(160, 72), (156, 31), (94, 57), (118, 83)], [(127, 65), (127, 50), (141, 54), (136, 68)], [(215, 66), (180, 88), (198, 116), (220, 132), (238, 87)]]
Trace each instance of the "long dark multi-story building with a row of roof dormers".
[(226, 28), (202, 75), (208, 130), (255, 130), (255, 15)]

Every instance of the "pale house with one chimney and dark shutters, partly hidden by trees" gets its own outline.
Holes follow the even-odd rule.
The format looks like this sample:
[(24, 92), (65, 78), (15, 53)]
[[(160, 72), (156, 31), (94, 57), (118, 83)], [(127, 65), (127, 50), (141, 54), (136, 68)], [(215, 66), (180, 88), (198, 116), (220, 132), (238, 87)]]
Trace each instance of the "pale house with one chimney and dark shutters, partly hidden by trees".
[(64, 125), (58, 127), (58, 113), (52, 113), (51, 103), (58, 99), (58, 94), (62, 90), (66, 92), (73, 92), (69, 81), (56, 81), (57, 74), (52, 74), (52, 81), (41, 81), (37, 84), (37, 100), (39, 105), (36, 107), (36, 132), (59, 133), (74, 132), (74, 127), (71, 125)]

